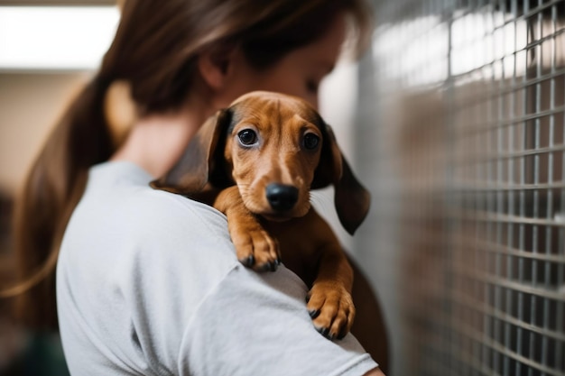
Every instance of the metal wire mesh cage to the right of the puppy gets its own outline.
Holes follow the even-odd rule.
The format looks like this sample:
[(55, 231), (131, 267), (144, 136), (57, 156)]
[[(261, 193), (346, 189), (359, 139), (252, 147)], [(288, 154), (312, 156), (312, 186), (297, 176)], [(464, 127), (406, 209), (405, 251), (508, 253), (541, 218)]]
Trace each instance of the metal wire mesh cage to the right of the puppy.
[(565, 375), (565, 1), (375, 14), (357, 124), (375, 198), (356, 249), (392, 374)]

